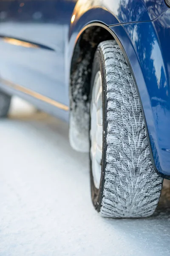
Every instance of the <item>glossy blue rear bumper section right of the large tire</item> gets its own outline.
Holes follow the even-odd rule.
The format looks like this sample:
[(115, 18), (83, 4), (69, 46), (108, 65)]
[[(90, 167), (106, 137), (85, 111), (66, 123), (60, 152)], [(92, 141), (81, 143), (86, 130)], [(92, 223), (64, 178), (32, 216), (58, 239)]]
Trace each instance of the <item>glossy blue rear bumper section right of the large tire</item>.
[(170, 9), (153, 22), (112, 26), (132, 68), (156, 172), (170, 179)]

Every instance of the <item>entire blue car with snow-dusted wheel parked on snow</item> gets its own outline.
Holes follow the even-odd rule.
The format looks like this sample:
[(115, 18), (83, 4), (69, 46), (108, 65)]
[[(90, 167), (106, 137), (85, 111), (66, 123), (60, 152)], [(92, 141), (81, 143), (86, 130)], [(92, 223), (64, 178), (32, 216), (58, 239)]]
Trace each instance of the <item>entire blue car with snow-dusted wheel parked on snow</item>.
[(170, 179), (170, 0), (0, 0), (0, 116), (69, 122), (104, 217), (153, 214)]

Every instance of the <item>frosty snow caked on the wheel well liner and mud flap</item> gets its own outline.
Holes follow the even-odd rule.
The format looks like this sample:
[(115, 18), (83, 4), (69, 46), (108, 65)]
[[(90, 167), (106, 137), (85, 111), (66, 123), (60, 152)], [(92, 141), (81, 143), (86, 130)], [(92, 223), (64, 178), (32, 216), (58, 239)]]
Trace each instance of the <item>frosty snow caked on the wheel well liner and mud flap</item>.
[(85, 88), (89, 87), (87, 75), (91, 54), (85, 56), (71, 76), (70, 88), (70, 129), (69, 140), (72, 148), (79, 152), (89, 152), (90, 103)]

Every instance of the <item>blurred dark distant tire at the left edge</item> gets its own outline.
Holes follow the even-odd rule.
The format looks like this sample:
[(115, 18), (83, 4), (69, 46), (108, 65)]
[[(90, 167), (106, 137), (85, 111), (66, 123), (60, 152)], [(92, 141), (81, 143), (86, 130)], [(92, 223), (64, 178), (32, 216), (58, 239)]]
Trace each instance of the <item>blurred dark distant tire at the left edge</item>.
[(0, 91), (0, 117), (6, 117), (11, 103), (11, 96)]

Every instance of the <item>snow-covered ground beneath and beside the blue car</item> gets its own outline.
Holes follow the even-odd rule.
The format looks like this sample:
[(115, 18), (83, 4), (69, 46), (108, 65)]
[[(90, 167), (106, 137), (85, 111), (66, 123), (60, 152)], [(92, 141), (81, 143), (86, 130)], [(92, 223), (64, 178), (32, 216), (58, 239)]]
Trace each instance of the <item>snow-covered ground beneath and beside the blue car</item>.
[(0, 120), (0, 256), (169, 256), (170, 192), (155, 216), (101, 218), (92, 207), (88, 155), (68, 126), (15, 99)]

